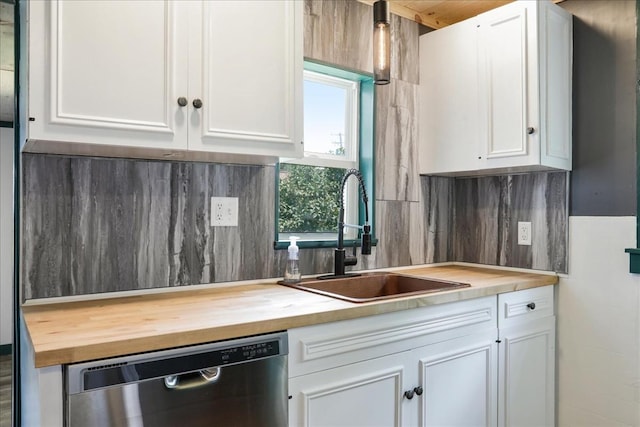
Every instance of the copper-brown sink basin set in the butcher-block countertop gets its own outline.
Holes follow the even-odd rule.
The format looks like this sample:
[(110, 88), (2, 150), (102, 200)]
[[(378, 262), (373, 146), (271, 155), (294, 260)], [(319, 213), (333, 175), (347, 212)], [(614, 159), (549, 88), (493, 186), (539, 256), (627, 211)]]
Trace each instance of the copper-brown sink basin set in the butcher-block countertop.
[(467, 288), (468, 283), (403, 276), (395, 273), (364, 273), (335, 279), (307, 279), (296, 284), (280, 284), (350, 302), (370, 302)]

